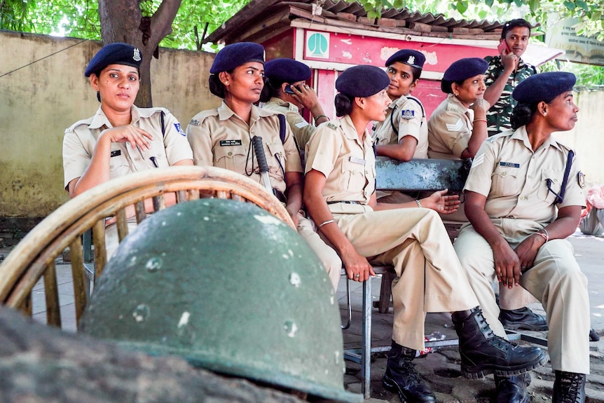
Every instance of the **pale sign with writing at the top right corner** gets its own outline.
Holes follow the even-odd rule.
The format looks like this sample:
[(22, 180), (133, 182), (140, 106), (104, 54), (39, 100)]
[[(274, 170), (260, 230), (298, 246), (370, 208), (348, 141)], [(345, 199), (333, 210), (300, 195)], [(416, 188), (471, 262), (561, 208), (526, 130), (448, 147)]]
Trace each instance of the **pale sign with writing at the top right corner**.
[(576, 18), (568, 18), (550, 24), (545, 39), (547, 46), (565, 50), (558, 59), (604, 66), (604, 42), (578, 35), (577, 22)]

